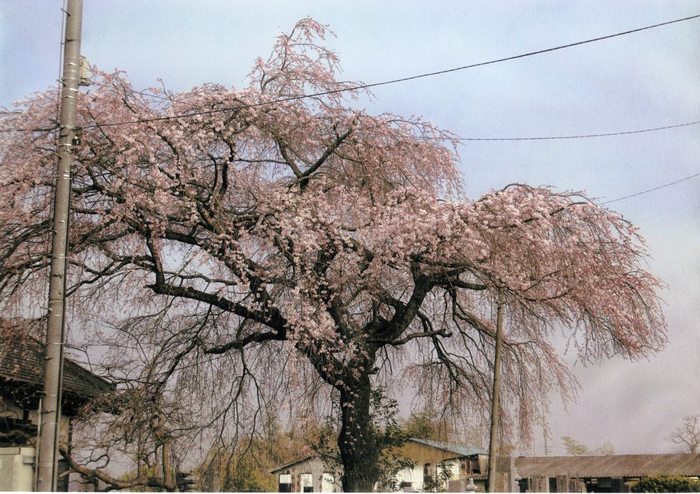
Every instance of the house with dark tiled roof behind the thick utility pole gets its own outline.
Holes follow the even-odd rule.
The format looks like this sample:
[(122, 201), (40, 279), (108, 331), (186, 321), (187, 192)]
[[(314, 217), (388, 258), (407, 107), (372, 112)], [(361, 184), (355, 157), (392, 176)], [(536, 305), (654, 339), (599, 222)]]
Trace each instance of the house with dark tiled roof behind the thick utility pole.
[[(44, 344), (34, 338), (20, 332), (0, 332), (0, 491), (26, 491), (34, 487), (34, 446), (40, 422), (44, 353)], [(112, 383), (65, 359), (61, 440), (70, 447), (72, 421), (80, 408), (113, 390)], [(59, 490), (65, 491), (67, 487), (68, 476), (61, 476)]]

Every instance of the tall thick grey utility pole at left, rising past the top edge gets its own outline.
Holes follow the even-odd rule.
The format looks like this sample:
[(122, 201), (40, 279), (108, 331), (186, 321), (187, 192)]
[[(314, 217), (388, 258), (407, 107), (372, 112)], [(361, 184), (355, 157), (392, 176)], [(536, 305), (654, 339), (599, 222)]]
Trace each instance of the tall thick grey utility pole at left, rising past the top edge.
[(37, 490), (55, 491), (58, 478), (58, 441), (63, 380), (63, 338), (66, 298), (66, 255), (68, 254), (68, 212), (70, 210), (71, 164), (75, 138), (75, 115), (80, 84), (80, 32), (82, 0), (66, 4), (66, 35), (61, 77), (61, 128), (59, 162), (54, 195), (53, 243), (49, 281), (49, 321), (46, 331), (44, 396), (41, 400)]

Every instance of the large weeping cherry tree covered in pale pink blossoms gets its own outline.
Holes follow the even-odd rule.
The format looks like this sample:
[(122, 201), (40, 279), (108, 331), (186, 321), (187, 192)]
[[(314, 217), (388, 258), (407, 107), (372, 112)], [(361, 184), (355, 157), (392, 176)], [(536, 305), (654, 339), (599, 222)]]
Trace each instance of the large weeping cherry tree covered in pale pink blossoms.
[[(394, 363), (431, 383), (435, 408), (488, 409), (498, 294), (501, 401), (523, 440), (541, 400), (573, 386), (555, 328), (588, 360), (664, 343), (633, 225), (547, 187), (467, 199), (453, 136), (354, 109), (324, 33), (300, 21), (242, 90), (144, 92), (95, 70), (79, 98), (70, 326), (107, 346), (102, 368), (134, 408), (89, 438), (102, 453), (170, 458), (168, 477), (260, 410), (335, 401), (343, 488), (369, 491), (384, 444), (372, 394)], [(17, 110), (0, 118), (4, 314), (45, 306), (60, 132), (55, 91)]]

